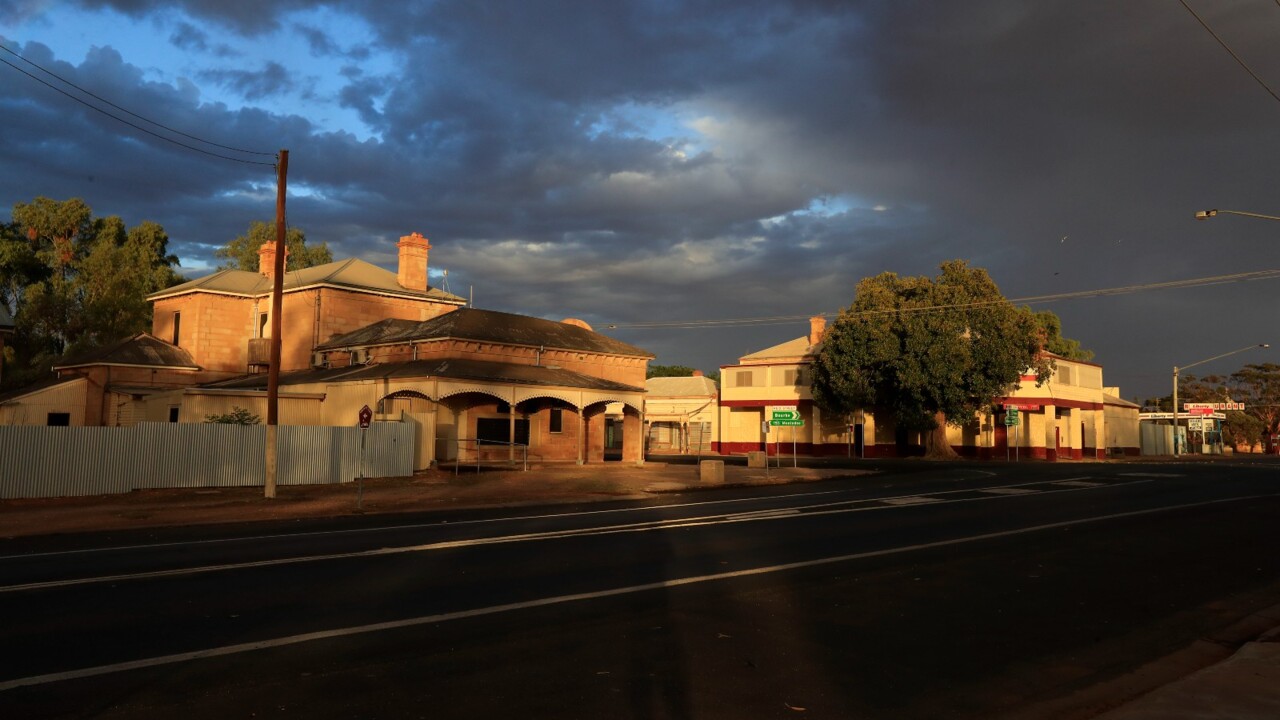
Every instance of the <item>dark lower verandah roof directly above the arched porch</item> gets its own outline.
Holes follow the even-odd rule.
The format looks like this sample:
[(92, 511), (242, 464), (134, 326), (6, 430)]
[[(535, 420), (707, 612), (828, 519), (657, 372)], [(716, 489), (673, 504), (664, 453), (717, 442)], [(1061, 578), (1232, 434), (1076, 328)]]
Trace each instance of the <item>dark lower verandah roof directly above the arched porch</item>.
[[(324, 368), (300, 370), (297, 373), (280, 373), (280, 384), (298, 386), (389, 378), (449, 378), (580, 389), (644, 392), (644, 388), (594, 378), (562, 368), (456, 359), (412, 360), (408, 363), (383, 363), (378, 365), (352, 365), (349, 368)], [(266, 389), (266, 375), (244, 375), (200, 387), (214, 389)]]

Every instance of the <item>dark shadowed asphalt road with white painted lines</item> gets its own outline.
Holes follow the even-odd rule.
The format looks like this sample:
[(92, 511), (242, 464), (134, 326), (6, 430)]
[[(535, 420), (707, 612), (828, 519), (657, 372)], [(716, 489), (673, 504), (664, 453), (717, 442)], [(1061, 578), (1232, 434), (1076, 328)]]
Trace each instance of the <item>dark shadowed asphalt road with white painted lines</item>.
[(1277, 546), (1271, 464), (13, 541), (0, 716), (1025, 714), (1280, 602)]

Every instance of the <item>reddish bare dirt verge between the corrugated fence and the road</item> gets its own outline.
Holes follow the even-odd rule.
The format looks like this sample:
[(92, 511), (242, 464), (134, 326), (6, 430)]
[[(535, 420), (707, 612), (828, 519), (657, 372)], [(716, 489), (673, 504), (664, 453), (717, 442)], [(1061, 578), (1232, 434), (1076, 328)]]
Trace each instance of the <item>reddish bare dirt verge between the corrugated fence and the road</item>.
[[(726, 466), (726, 486), (813, 482), (861, 474), (806, 468), (749, 470)], [(460, 507), (547, 505), (652, 497), (663, 492), (724, 487), (699, 482), (692, 465), (545, 465), (522, 470), (462, 468), (410, 478), (364, 482), (361, 512), (412, 512)], [(275, 498), (261, 487), (142, 489), (123, 495), (0, 500), (0, 537), (93, 530), (242, 523), (356, 514), (356, 483), (280, 486)]]

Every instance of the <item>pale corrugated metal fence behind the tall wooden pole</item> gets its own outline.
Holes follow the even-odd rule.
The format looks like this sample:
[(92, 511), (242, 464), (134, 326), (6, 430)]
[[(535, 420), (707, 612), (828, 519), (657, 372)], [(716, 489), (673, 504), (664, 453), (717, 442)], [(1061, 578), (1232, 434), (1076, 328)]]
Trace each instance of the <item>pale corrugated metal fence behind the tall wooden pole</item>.
[[(364, 462), (361, 462), (361, 437)], [(280, 425), (276, 484), (413, 473), (413, 427)], [(108, 495), (136, 488), (262, 486), (264, 425), (142, 423), (132, 428), (0, 427), (0, 497)]]

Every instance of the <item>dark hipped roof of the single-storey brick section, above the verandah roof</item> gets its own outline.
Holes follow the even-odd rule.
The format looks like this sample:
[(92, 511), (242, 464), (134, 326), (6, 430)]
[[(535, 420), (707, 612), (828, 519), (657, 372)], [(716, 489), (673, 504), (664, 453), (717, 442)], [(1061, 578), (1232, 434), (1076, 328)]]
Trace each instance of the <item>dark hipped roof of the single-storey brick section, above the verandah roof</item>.
[(544, 347), (547, 350), (655, 357), (652, 352), (640, 350), (634, 345), (627, 345), (620, 340), (613, 340), (612, 337), (579, 325), (530, 318), (529, 315), (516, 315), (513, 313), (476, 310), (475, 307), (460, 307), (421, 323), (412, 320), (381, 320), (335, 337), (329, 342), (321, 343), (316, 350), (343, 350), (439, 340), (466, 340), (497, 345)]

